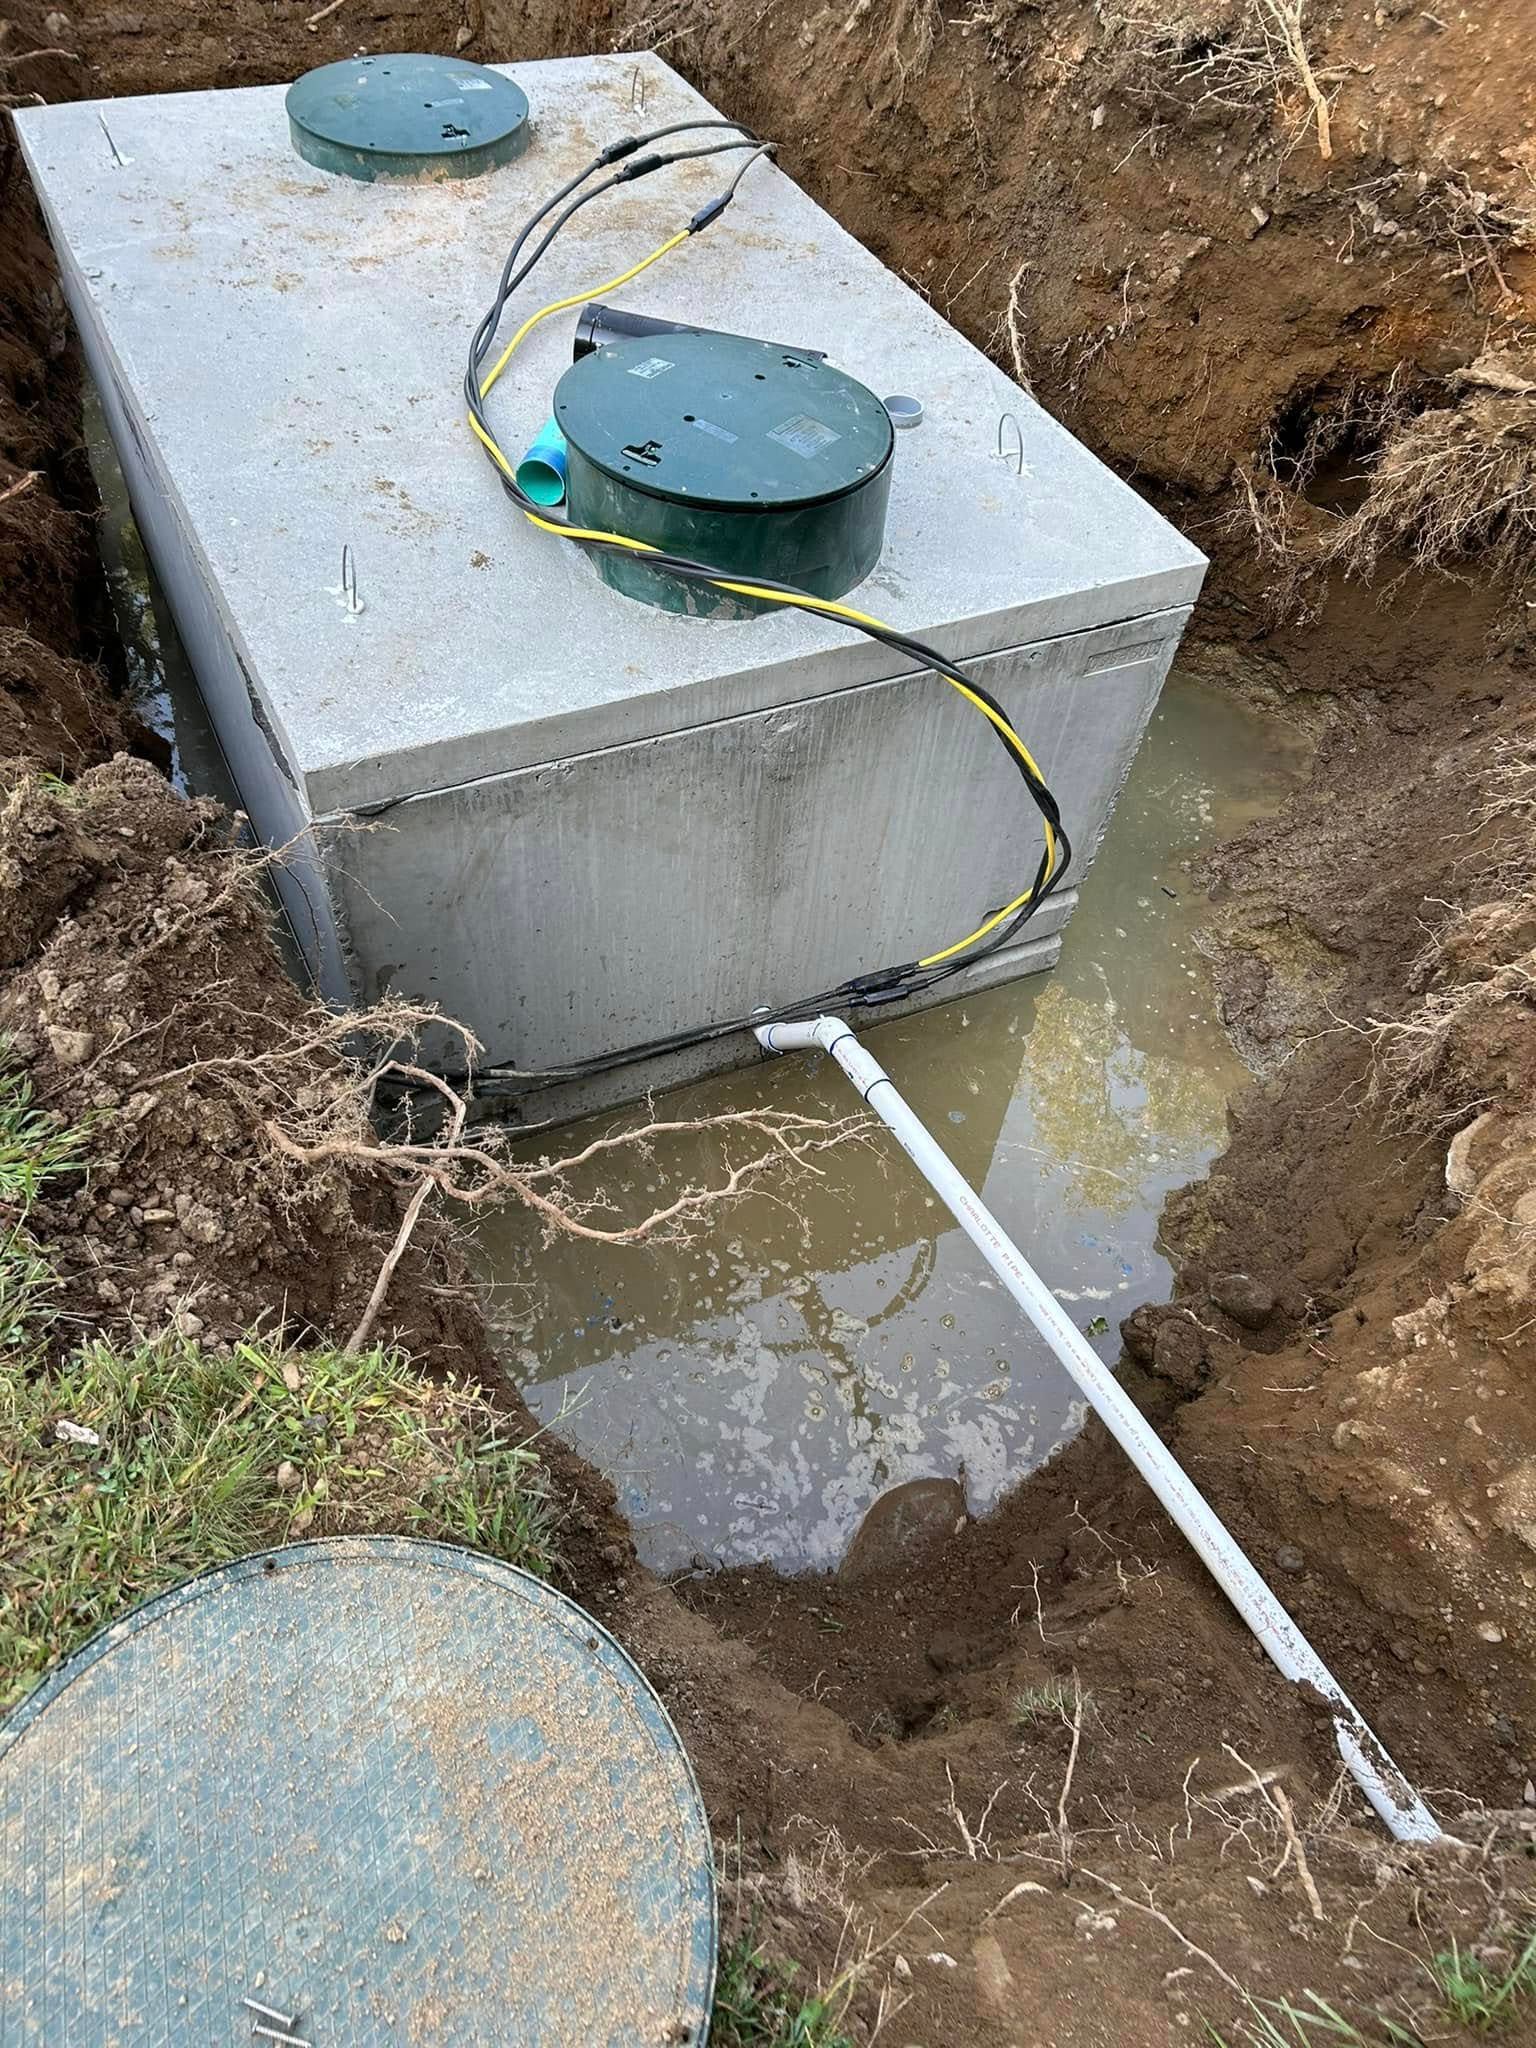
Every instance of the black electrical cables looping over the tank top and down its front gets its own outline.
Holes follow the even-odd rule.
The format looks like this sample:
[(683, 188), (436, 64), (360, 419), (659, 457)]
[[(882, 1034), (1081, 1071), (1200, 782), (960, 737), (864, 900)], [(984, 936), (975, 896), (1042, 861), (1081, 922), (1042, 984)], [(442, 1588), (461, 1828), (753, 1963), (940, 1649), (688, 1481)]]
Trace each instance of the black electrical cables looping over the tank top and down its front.
[[(590, 176), (594, 176), (594, 172), (606, 168), (608, 164), (612, 164), (612, 162), (625, 162), (627, 158), (633, 158), (635, 152), (639, 152), (643, 147), (649, 147), (651, 143), (664, 139), (666, 135), (682, 133), (682, 131), (692, 129), (692, 127), (731, 127), (731, 129), (735, 129), (735, 133), (741, 139), (739, 141), (731, 141), (731, 143), (707, 145), (702, 150), (686, 150), (686, 152), (674, 152), (670, 156), (643, 158), (641, 162), (631, 164), (629, 170), (616, 172), (612, 178), (604, 178), (602, 184), (594, 184), (586, 193), (578, 190), (582, 184), (586, 184), (586, 180)], [(494, 442), (494, 436), (489, 434), (489, 422), (485, 418), (485, 410), (483, 410), (483, 401), (481, 401), (481, 391), (479, 391), (479, 371), (481, 371), (481, 367), (485, 362), (485, 356), (489, 354), (489, 346), (492, 346), (492, 342), (496, 338), (496, 330), (498, 330), (498, 326), (502, 322), (502, 313), (506, 311), (508, 299), (524, 283), (524, 279), (530, 274), (530, 270), (535, 268), (535, 264), (543, 258), (545, 250), (551, 246), (551, 242), (555, 240), (555, 236), (559, 236), (561, 227), (571, 219), (571, 215), (580, 207), (588, 205), (588, 201), (602, 197), (604, 193), (612, 190), (616, 184), (631, 182), (635, 176), (649, 176), (653, 170), (662, 170), (662, 168), (666, 168), (668, 164), (674, 164), (674, 162), (682, 162), (682, 160), (688, 160), (688, 158), (700, 158), (700, 156), (715, 156), (715, 154), (721, 154), (721, 152), (727, 152), (727, 150), (739, 150), (739, 147), (752, 147), (752, 156), (748, 158), (745, 164), (741, 164), (741, 168), (737, 170), (737, 174), (731, 178), (731, 184), (727, 186), (727, 190), (719, 199), (715, 199), (707, 207), (702, 207), (694, 215), (694, 219), (688, 223), (688, 231), (690, 233), (698, 233), (711, 221), (719, 219), (719, 215), (725, 211), (725, 207), (735, 197), (735, 193), (737, 193), (741, 180), (745, 178), (748, 170), (752, 168), (752, 164), (756, 164), (758, 158), (766, 156), (774, 147), (772, 143), (760, 141), (756, 135), (752, 135), (750, 129), (743, 129), (737, 123), (727, 123), (727, 121), (715, 121), (715, 123), (702, 123), (702, 121), (700, 123), (676, 123), (670, 129), (655, 129), (655, 131), (651, 131), (649, 135), (643, 135), (643, 137), (623, 137), (623, 141), (610, 143), (604, 152), (600, 152), (592, 160), (592, 164), (588, 164), (588, 168), (584, 172), (580, 172), (575, 178), (567, 180), (524, 223), (524, 227), (518, 231), (516, 242), (508, 250), (506, 262), (502, 266), (502, 276), (500, 276), (500, 283), (498, 283), (496, 299), (492, 301), (492, 305), (487, 307), (483, 319), (475, 328), (475, 334), (473, 334), (471, 344), (469, 344), (469, 362), (467, 362), (467, 369), (465, 369), (465, 401), (469, 406), (471, 418), (475, 418), (479, 422), (479, 426), (485, 430), (485, 434), (489, 436), (492, 442)], [(526, 246), (528, 236), (539, 227), (541, 221), (545, 221), (555, 211), (555, 207), (559, 207), (559, 203), (563, 199), (569, 199), (573, 193), (578, 197), (571, 199), (571, 205), (565, 207), (565, 211), (559, 215), (559, 219), (545, 231), (543, 240), (539, 242), (539, 246), (535, 248), (535, 252), (528, 256), (528, 260), (520, 268), (516, 268), (518, 256), (520, 256), (522, 248)], [(518, 489), (516, 477), (508, 475), (500, 467), (498, 467), (498, 477), (500, 477), (500, 483), (502, 483), (502, 489), (506, 492), (506, 496), (520, 510), (535, 514), (537, 518), (541, 518), (547, 524), (557, 524), (555, 520), (549, 520), (547, 508), (537, 506), (522, 489)], [(612, 553), (629, 553), (629, 549), (625, 549), (621, 541), (606, 543), (606, 541), (584, 539), (584, 541), (578, 541), (578, 545), (580, 547), (590, 547), (590, 549), (596, 549), (596, 551), (608, 549)], [(760, 575), (754, 575), (754, 578), (735, 578), (731, 571), (723, 571), (723, 569), (719, 569), (717, 565), (711, 565), (711, 563), (692, 561), (686, 555), (670, 555), (670, 553), (664, 553), (664, 551), (647, 551), (645, 553), (645, 565), (651, 567), (651, 569), (659, 569), (666, 575), (676, 575), (682, 582), (707, 582), (707, 584), (752, 582), (756, 588), (782, 594), (788, 600), (805, 598), (805, 592), (797, 590), (793, 584), (776, 584), (770, 578), (760, 578)], [(829, 614), (817, 614), (815, 604), (807, 606), (807, 610), (811, 610), (813, 616), (829, 616)], [(905, 633), (897, 633), (895, 629), (877, 625), (872, 621), (852, 621), (852, 618), (848, 618), (844, 623), (856, 627), (856, 631), (864, 633), (868, 639), (872, 639), (879, 645), (891, 649), (893, 653), (905, 655), (907, 659), (915, 662), (920, 668), (930, 668), (936, 674), (948, 674), (948, 676), (958, 678), (965, 684), (965, 688), (981, 705), (987, 707), (987, 711), (991, 711), (1006, 727), (1010, 725), (1008, 713), (997, 702), (997, 698), (981, 682), (977, 682), (977, 678), (971, 676), (958, 662), (946, 659), (934, 647), (930, 647), (926, 641), (913, 639), (911, 635), (905, 635)], [(993, 731), (997, 731), (997, 727), (993, 727)], [(969, 973), (979, 961), (985, 961), (991, 954), (995, 954), (1001, 948), (1006, 948), (1008, 944), (1012, 944), (1012, 940), (1018, 936), (1018, 932), (1030, 922), (1030, 918), (1036, 915), (1036, 911), (1040, 909), (1040, 905), (1061, 887), (1061, 881), (1063, 881), (1063, 877), (1065, 877), (1065, 872), (1067, 872), (1067, 868), (1071, 864), (1071, 842), (1067, 838), (1067, 831), (1061, 825), (1061, 809), (1057, 805), (1057, 799), (1051, 793), (1049, 784), (1034, 772), (1034, 768), (1022, 758), (1022, 754), (1016, 748), (1010, 745), (1008, 737), (1001, 731), (997, 731), (997, 739), (1004, 745), (1004, 750), (1006, 750), (1010, 762), (1014, 764), (1014, 768), (1024, 778), (1024, 786), (1028, 788), (1028, 795), (1030, 795), (1034, 807), (1038, 809), (1038, 813), (1044, 819), (1049, 819), (1049, 823), (1051, 823), (1051, 827), (1053, 827), (1053, 831), (1057, 836), (1057, 842), (1059, 842), (1059, 858), (1055, 860), (1055, 864), (1051, 862), (1051, 854), (1049, 852), (1044, 852), (1040, 856), (1040, 862), (1038, 862), (1036, 872), (1034, 872), (1034, 885), (1030, 889), (1028, 901), (1018, 909), (1018, 913), (1014, 918), (1008, 920), (1006, 926), (1001, 926), (997, 932), (989, 934), (983, 944), (979, 944), (977, 948), (961, 954), (954, 961), (946, 961), (946, 963), (942, 963), (938, 967), (930, 967), (930, 969), (924, 969), (920, 961), (907, 961), (901, 967), (879, 969), (879, 971), (868, 973), (868, 975), (854, 975), (854, 977), (850, 977), (848, 981), (840, 983), (834, 989), (823, 989), (819, 995), (809, 995), (809, 997), (803, 997), (801, 1001), (795, 1001), (795, 1004), (776, 1006), (774, 1012), (772, 1012), (774, 1018), (784, 1018), (784, 1020), (791, 1020), (791, 1018), (811, 1018), (811, 1016), (819, 1016), (823, 1010), (872, 1010), (872, 1008), (881, 1008), (881, 1006), (887, 1006), (887, 1004), (909, 1001), (915, 995), (924, 995), (930, 989), (934, 989), (934, 987), (942, 985), (944, 981), (952, 979), (954, 975)], [(383, 809), (391, 809), (393, 803), (399, 803), (399, 801), (408, 801), (408, 799), (391, 799), (385, 805), (365, 807), (356, 815), (377, 815)], [(645, 1061), (645, 1059), (655, 1059), (655, 1057), (659, 1057), (664, 1053), (678, 1053), (678, 1051), (684, 1051), (688, 1047), (694, 1047), (694, 1044), (711, 1044), (711, 1042), (715, 1042), (719, 1038), (729, 1038), (729, 1036), (735, 1036), (737, 1032), (752, 1030), (758, 1022), (762, 1022), (762, 1012), (750, 1012), (748, 1016), (725, 1018), (725, 1020), (719, 1020), (715, 1024), (690, 1026), (686, 1030), (666, 1032), (666, 1034), (662, 1034), (657, 1038), (647, 1038), (641, 1044), (625, 1047), (623, 1053), (604, 1053), (604, 1055), (596, 1055), (592, 1059), (571, 1061), (571, 1063), (561, 1065), (561, 1067), (543, 1067), (537, 1073), (524, 1073), (524, 1071), (520, 1071), (516, 1067), (510, 1067), (506, 1063), (494, 1063), (494, 1065), (487, 1065), (487, 1067), (473, 1069), (473, 1073), (469, 1069), (461, 1069), (461, 1071), (455, 1071), (455, 1073), (444, 1073), (444, 1079), (459, 1081), (459, 1083), (473, 1081), (483, 1094), (532, 1094), (539, 1087), (557, 1085), (561, 1081), (584, 1079), (584, 1077), (596, 1075), (596, 1073), (606, 1073), (612, 1067), (629, 1067), (629, 1065), (635, 1065), (635, 1063)]]

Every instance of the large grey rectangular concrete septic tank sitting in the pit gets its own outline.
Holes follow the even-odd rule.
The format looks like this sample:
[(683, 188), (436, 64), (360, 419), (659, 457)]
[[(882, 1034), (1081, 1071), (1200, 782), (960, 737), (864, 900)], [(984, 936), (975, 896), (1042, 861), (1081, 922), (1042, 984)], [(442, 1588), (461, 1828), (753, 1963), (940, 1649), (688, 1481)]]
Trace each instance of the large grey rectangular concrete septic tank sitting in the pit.
[[(713, 111), (651, 55), (512, 72), (528, 147), (463, 180), (301, 162), (279, 86), (14, 119), (242, 799), (293, 842), (279, 885), (319, 989), (436, 1001), (485, 1061), (537, 1071), (946, 946), (1040, 842), (987, 723), (932, 674), (801, 612), (635, 602), (502, 496), (461, 379), (512, 236), (606, 141)], [(586, 207), (502, 332), (596, 295), (739, 162)], [(922, 399), (852, 602), (973, 664), (1057, 791), (1075, 885), (1204, 557), (770, 164), (608, 297)], [(575, 317), (492, 393), (512, 459)], [(942, 995), (1049, 967), (1073, 903)], [(430, 1051), (459, 1061), (446, 1034)], [(752, 1057), (737, 1034), (614, 1065), (532, 1114)]]

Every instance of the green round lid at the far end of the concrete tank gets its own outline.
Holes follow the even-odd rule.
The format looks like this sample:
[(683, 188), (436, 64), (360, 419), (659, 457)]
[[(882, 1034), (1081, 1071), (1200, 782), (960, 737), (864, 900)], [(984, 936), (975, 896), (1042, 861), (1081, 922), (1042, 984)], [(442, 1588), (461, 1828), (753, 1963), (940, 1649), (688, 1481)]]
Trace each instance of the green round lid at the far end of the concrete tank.
[(528, 147), (528, 96), (457, 57), (348, 57), (287, 94), (299, 156), (344, 178), (479, 178)]

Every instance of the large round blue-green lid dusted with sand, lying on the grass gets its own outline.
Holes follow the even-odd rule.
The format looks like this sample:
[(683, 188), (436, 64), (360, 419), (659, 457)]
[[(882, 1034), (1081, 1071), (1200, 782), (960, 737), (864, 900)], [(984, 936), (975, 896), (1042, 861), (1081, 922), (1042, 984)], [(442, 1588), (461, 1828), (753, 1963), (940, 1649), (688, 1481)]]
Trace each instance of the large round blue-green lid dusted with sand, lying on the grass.
[(700, 2042), (709, 1823), (662, 1702), (524, 1571), (223, 1565), (0, 1726), (0, 2038)]

